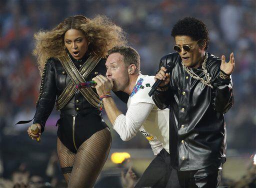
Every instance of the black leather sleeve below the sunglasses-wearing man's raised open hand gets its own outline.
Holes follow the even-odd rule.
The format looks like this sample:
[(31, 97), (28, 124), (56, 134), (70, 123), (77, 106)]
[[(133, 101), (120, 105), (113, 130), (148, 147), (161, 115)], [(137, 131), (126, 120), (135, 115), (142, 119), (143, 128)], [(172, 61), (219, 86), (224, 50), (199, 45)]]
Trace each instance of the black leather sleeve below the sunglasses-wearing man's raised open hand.
[(225, 113), (233, 105), (233, 86), (231, 76), (229, 79), (219, 77), (220, 65), (216, 67), (213, 78), (212, 104), (217, 112)]

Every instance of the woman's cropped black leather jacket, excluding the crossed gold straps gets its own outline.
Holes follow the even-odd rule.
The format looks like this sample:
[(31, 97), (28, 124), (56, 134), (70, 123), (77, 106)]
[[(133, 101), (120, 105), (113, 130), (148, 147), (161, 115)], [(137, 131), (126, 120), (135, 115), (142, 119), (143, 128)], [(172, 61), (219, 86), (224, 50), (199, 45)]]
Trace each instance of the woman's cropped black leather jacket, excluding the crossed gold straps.
[[(86, 53), (81, 59), (76, 60), (69, 55), (74, 65), (79, 69), (84, 61), (88, 58)], [(105, 75), (105, 59), (101, 58), (91, 73), (85, 78), (86, 81), (91, 80), (98, 74)], [(41, 132), (44, 130), (45, 122), (51, 113), (56, 97), (64, 90), (70, 77), (67, 75), (60, 61), (56, 58), (49, 58), (48, 63), (45, 65), (44, 81), (41, 85), (42, 94), (36, 104), (36, 112), (34, 115), (33, 123), (39, 123), (42, 127)], [(94, 88), (93, 88), (94, 89)], [(94, 89), (95, 93), (96, 90)], [(128, 95), (123, 92), (115, 92), (115, 94), (126, 102)], [(70, 101), (60, 109), (60, 116), (62, 115), (88, 115), (91, 113), (100, 114), (100, 110), (92, 106), (80, 93), (79, 89), (70, 99)]]

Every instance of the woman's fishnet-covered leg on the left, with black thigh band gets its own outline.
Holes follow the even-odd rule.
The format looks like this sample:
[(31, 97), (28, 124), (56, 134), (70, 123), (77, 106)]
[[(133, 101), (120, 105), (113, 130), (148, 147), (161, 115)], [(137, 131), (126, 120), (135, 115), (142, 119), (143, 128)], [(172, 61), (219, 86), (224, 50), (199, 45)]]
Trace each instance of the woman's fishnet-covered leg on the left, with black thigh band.
[[(61, 143), (61, 141), (57, 137), (57, 154), (60, 167), (71, 167), (74, 163), (75, 153), (69, 151), (66, 146)], [(66, 180), (66, 184), (68, 183), (68, 179), (71, 173), (63, 173), (64, 178)]]

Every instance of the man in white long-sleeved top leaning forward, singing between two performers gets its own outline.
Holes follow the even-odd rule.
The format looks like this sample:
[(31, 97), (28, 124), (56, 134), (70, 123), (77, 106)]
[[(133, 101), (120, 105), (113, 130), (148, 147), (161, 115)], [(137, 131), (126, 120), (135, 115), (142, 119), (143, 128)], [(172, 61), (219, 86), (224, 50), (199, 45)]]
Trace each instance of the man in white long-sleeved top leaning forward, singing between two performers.
[[(113, 47), (106, 59), (106, 77), (93, 78), (106, 114), (121, 139), (127, 141), (140, 131), (151, 144), (157, 156), (151, 161), (135, 187), (165, 187), (170, 172), (169, 162), (169, 109), (156, 107), (148, 92), (154, 76), (139, 71), (139, 54), (128, 46)], [(116, 107), (110, 90), (129, 94), (127, 112)]]

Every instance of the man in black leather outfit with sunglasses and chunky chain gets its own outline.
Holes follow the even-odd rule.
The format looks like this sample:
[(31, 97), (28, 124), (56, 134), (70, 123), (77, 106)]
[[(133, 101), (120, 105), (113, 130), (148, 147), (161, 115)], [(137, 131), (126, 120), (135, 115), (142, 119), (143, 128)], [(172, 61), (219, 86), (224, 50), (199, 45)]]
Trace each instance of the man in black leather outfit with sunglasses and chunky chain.
[[(177, 52), (160, 60), (153, 93), (158, 108), (170, 108), (170, 187), (216, 187), (225, 161), (223, 113), (233, 104), (233, 53), (229, 62), (208, 53), (208, 30), (192, 17), (179, 20), (171, 35)], [(167, 63), (173, 63), (165, 73)]]

